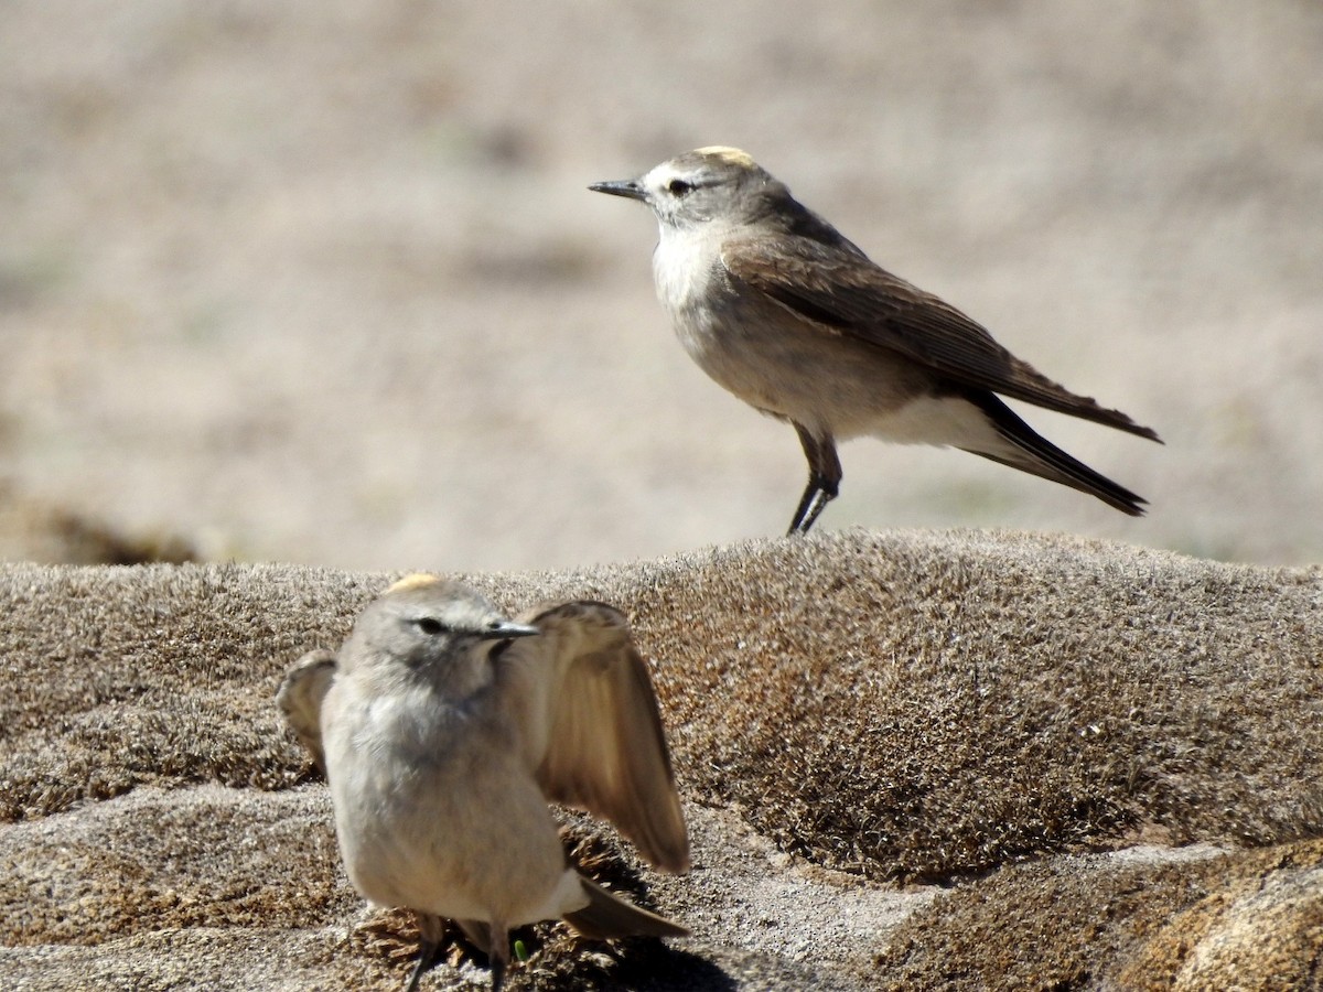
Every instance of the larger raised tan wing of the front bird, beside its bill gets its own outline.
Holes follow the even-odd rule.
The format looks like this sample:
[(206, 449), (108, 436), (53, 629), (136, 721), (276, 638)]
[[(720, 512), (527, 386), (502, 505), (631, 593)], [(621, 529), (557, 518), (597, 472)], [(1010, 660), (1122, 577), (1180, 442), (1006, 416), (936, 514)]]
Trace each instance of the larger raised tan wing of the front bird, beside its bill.
[(611, 820), (648, 861), (689, 868), (689, 836), (647, 663), (618, 610), (565, 603), (520, 618), (500, 679), (520, 710), (525, 753), (546, 798)]

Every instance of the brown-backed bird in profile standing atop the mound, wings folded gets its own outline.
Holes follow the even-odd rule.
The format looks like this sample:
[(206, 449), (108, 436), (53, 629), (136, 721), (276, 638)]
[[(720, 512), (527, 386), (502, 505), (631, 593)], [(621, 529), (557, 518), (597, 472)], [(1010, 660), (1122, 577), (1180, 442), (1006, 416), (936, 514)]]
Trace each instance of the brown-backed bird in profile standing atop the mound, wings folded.
[(1159, 440), (1151, 429), (1058, 386), (875, 265), (738, 148), (699, 148), (589, 189), (652, 208), (652, 274), (684, 349), (794, 426), (808, 485), (791, 534), (807, 533), (840, 491), (836, 440), (861, 435), (963, 448), (1143, 515), (1146, 500), (1039, 436), (995, 394)]

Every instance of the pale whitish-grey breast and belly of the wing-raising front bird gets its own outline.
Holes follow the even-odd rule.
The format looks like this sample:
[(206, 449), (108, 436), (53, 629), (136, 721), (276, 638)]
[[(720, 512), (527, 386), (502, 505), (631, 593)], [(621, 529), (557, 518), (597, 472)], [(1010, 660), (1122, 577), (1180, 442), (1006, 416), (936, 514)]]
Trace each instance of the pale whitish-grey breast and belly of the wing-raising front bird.
[(447, 720), (407, 696), (373, 702), (341, 710), (327, 735), (336, 835), (355, 888), (382, 906), (531, 919), (565, 856), (541, 791), (504, 747), (508, 733), (459, 726), (454, 713)]

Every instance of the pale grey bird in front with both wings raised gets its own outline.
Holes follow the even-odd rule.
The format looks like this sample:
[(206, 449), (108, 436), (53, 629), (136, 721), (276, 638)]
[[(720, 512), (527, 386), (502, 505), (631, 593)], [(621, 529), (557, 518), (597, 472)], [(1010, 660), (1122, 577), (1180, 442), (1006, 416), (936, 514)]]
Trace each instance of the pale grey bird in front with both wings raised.
[(442, 918), (487, 952), (493, 992), (525, 923), (688, 934), (581, 876), (546, 806), (606, 816), (652, 864), (689, 868), (652, 681), (618, 610), (573, 602), (515, 623), (466, 586), (410, 577), (337, 655), (304, 655), (277, 701), (325, 771), (355, 888), (418, 919), (410, 992)]

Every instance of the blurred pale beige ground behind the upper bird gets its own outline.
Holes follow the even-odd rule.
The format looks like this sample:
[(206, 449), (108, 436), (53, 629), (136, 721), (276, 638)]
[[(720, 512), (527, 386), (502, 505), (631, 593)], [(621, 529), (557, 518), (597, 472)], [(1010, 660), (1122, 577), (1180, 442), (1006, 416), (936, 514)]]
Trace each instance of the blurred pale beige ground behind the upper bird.
[(1131, 520), (855, 440), (819, 528), (1323, 559), (1315, 0), (9, 0), (0, 557), (565, 569), (781, 534), (595, 196), (746, 148), (1156, 446), (1019, 407)]

